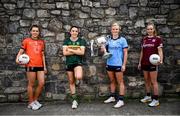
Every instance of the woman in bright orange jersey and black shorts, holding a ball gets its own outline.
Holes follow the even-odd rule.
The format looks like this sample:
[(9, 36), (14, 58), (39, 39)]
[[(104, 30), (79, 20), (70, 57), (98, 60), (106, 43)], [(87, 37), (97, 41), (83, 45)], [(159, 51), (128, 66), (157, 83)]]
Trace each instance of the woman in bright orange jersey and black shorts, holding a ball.
[[(30, 28), (30, 34), (31, 36), (25, 38), (22, 42), (21, 48), (16, 57), (16, 63), (22, 65), (18, 58), (23, 53), (27, 54), (30, 58), (29, 63), (25, 65), (26, 76), (28, 79), (28, 108), (37, 110), (42, 107), (42, 104), (38, 102), (38, 97), (41, 94), (45, 83), (44, 75), (47, 73), (44, 55), (45, 42), (40, 38), (39, 26), (32, 25)], [(38, 86), (34, 92), (34, 82), (36, 79), (38, 80)]]

